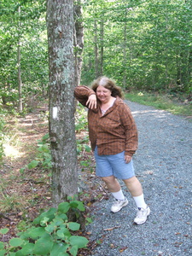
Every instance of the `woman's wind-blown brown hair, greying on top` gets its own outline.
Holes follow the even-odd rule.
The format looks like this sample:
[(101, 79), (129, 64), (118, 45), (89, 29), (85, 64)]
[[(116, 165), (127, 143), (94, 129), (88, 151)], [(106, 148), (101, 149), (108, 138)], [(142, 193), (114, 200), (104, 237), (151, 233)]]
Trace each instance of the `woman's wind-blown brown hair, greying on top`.
[(108, 90), (111, 90), (111, 96), (117, 97), (119, 96), (120, 98), (123, 98), (123, 93), (122, 90), (115, 84), (113, 79), (108, 79), (107, 77), (100, 77), (93, 81), (92, 85), (92, 90), (96, 92), (96, 89), (99, 85), (102, 85)]

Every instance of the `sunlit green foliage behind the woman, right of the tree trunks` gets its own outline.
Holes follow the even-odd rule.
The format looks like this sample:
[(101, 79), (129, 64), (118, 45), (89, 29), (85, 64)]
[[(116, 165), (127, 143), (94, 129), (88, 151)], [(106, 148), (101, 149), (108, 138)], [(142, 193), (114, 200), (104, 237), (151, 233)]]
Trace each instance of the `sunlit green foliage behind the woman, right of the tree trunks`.
[(189, 93), (190, 23), (190, 1), (84, 1), (82, 84), (99, 72), (125, 90)]

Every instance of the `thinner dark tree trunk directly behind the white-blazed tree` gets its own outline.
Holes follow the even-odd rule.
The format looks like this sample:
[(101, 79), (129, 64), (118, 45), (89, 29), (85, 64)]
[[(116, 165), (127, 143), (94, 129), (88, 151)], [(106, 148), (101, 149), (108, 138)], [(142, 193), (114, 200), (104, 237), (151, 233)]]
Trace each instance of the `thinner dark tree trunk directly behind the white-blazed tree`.
[(75, 55), (75, 84), (80, 84), (81, 67), (82, 67), (82, 54), (84, 50), (84, 25), (82, 22), (82, 6), (81, 0), (74, 1), (74, 55)]

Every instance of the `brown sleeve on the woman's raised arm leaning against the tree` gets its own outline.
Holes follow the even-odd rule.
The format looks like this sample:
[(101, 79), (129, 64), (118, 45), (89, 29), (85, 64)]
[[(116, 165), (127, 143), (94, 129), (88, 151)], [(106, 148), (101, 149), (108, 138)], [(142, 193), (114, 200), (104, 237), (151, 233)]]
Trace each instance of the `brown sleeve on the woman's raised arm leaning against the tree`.
[(95, 91), (84, 85), (77, 86), (74, 90), (75, 98), (84, 105), (84, 107), (87, 107), (86, 102), (92, 94), (96, 94)]

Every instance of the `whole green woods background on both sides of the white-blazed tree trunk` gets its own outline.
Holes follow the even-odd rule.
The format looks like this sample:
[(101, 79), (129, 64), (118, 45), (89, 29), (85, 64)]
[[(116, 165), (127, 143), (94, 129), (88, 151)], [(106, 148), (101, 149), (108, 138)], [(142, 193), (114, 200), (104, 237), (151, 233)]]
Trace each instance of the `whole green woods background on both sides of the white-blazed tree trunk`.
[[(190, 0), (81, 4), (82, 84), (104, 74), (125, 90), (191, 93)], [(1, 103), (18, 106), (22, 97), (25, 108), (26, 96), (44, 96), (48, 88), (46, 1), (2, 1), (0, 9)]]

